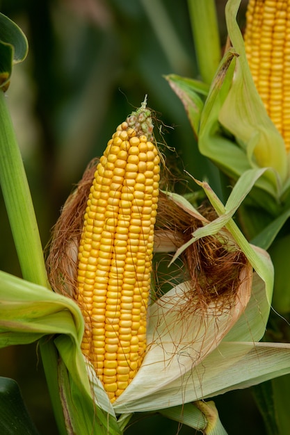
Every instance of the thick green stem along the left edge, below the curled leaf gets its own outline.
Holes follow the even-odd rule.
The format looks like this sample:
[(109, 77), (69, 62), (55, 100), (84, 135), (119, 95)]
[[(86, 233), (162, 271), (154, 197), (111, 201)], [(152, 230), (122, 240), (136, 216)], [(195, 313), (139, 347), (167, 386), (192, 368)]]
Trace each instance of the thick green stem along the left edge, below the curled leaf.
[(0, 91), (0, 185), (24, 279), (47, 287), (47, 273), (29, 185), (6, 97)]

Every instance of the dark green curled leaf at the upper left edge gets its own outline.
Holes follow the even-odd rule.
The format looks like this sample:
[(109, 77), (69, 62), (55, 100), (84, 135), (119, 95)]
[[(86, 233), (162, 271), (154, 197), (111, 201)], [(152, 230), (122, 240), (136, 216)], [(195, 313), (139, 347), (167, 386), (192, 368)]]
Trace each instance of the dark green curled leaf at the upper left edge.
[(22, 30), (0, 14), (0, 88), (8, 88), (13, 65), (22, 62), (27, 52), (28, 42)]

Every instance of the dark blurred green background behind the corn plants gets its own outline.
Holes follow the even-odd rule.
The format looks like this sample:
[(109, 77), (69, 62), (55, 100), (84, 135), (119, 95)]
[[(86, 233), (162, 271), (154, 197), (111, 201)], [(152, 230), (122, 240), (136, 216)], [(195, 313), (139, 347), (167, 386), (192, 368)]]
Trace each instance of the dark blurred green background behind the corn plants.
[[(222, 44), (225, 3), (217, 1)], [(185, 169), (218, 189), (216, 168), (200, 156), (184, 108), (163, 77), (198, 78), (186, 0), (2, 0), (0, 11), (29, 40), (29, 56), (13, 71), (7, 101), (43, 247), (87, 163), (102, 154), (116, 126), (145, 94), (172, 172), (184, 177)], [(177, 188), (194, 188), (186, 183)], [(0, 268), (20, 276), (2, 198), (0, 223)], [(57, 434), (37, 346), (1, 350), (0, 375), (17, 380), (40, 434)], [(249, 391), (215, 401), (229, 435), (264, 434)], [(136, 421), (127, 434), (170, 435), (180, 429), (158, 415)], [(179, 433), (195, 431), (182, 427)]]

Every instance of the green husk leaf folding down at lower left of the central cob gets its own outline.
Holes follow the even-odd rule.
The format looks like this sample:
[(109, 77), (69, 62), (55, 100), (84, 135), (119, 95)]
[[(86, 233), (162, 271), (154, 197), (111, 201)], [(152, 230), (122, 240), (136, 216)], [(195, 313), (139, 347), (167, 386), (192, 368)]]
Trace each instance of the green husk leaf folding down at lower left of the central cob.
[(81, 353), (83, 316), (75, 302), (0, 271), (0, 306), (0, 347), (32, 343), (40, 338), (54, 343), (61, 356), (58, 384), (68, 411), (67, 428), (72, 426), (75, 433), (84, 435), (120, 435), (115, 417), (108, 416), (92, 400)]

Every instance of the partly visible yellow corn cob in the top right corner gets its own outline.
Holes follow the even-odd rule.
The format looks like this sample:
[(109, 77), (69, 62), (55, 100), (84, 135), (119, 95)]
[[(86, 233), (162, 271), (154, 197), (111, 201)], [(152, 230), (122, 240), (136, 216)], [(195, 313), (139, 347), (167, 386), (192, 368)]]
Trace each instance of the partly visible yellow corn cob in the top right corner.
[(268, 115), (290, 149), (290, 0), (250, 0), (245, 53)]

